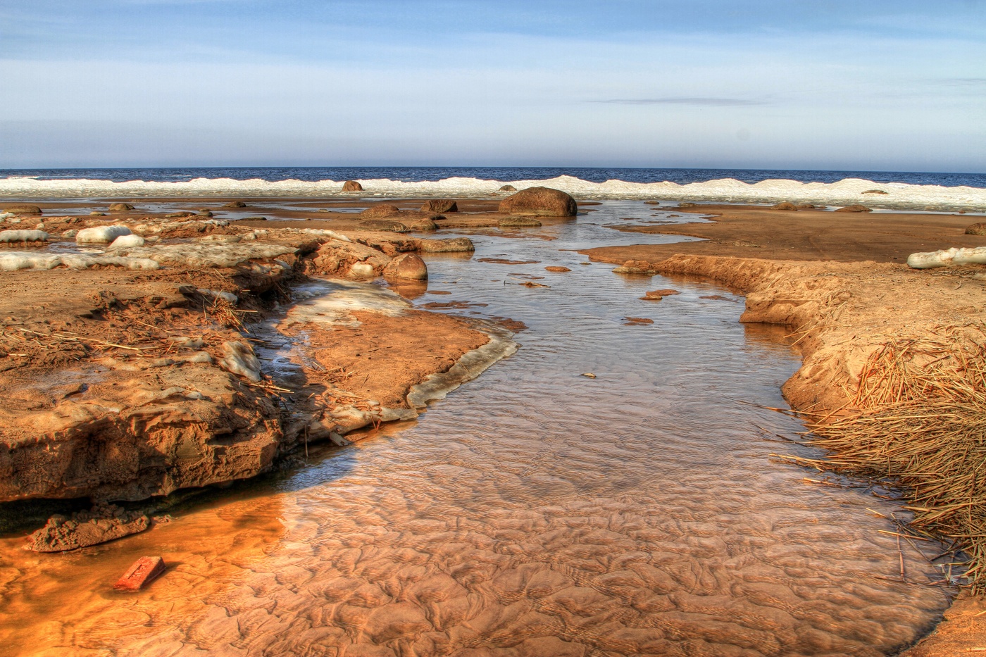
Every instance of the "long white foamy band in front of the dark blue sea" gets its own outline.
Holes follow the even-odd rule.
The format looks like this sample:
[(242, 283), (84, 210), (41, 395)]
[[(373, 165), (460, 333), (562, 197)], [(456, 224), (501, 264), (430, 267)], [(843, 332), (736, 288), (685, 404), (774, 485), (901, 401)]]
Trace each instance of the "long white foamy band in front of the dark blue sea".
[(548, 180), (488, 181), (452, 177), (440, 181), (404, 182), (390, 179), (361, 180), (364, 190), (343, 193), (342, 181), (239, 181), (230, 178), (196, 178), (181, 182), (111, 182), (89, 179), (40, 180), (35, 177), (0, 179), (0, 198), (77, 199), (122, 197), (435, 197), (496, 198), (504, 184), (518, 189), (543, 185), (562, 189), (578, 199), (644, 199), (698, 202), (776, 203), (792, 201), (824, 205), (863, 203), (869, 207), (915, 210), (986, 211), (986, 188), (938, 184), (875, 183), (847, 178), (836, 183), (801, 183), (767, 180), (743, 183), (725, 178), (701, 183), (630, 183), (609, 180), (592, 183), (572, 176)]

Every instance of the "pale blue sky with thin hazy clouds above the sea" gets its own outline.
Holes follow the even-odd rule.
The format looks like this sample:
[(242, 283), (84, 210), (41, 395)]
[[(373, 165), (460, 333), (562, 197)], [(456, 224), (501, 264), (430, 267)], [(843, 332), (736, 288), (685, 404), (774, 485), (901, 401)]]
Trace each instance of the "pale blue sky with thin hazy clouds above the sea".
[(986, 173), (986, 0), (0, 0), (0, 169)]

